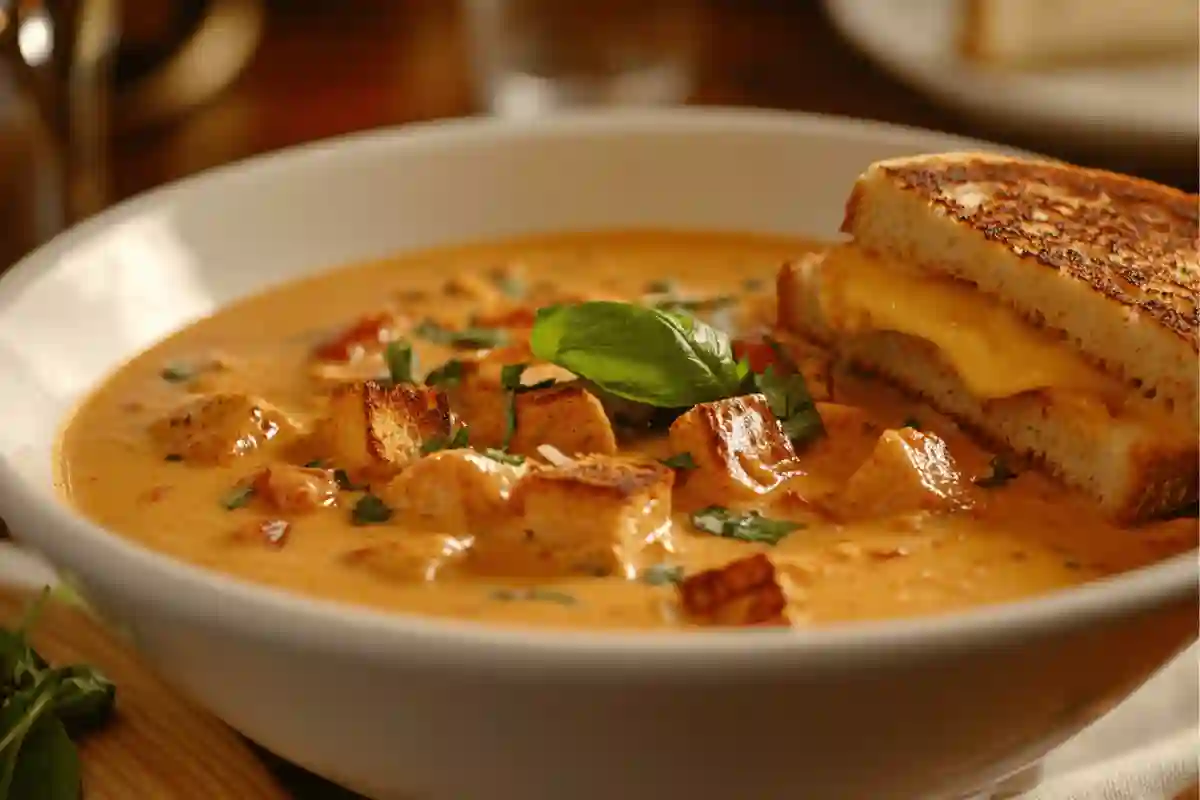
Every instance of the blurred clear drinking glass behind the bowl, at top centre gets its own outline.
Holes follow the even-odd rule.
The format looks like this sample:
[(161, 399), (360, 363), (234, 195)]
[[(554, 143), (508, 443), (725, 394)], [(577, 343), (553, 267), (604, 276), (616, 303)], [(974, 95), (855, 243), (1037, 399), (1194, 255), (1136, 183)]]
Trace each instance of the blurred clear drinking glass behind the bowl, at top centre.
[(694, 0), (463, 0), (480, 104), (506, 116), (680, 103)]

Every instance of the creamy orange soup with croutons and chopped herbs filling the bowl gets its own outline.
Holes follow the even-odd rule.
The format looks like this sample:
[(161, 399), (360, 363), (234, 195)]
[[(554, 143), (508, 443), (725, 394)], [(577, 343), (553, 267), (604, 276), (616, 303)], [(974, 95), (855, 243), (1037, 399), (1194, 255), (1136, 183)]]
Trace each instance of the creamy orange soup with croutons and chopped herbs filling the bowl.
[[(62, 435), (61, 488), (122, 536), (250, 581), (570, 627), (934, 614), (1195, 546), (1194, 519), (1112, 527), (920, 403), (774, 338), (775, 273), (814, 247), (562, 235), (284, 285), (102, 385)], [(535, 309), (606, 300), (707, 320), (816, 403), (767, 392), (773, 416), (760, 377), (697, 416), (583, 391), (530, 355)], [(431, 387), (406, 389), (409, 371)]]

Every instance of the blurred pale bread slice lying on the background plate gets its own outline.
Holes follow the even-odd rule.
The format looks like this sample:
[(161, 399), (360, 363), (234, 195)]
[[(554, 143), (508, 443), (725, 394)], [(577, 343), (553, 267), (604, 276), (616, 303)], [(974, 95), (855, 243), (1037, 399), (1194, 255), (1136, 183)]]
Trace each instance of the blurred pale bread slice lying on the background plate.
[(1194, 59), (1195, 0), (962, 0), (959, 49), (997, 66)]

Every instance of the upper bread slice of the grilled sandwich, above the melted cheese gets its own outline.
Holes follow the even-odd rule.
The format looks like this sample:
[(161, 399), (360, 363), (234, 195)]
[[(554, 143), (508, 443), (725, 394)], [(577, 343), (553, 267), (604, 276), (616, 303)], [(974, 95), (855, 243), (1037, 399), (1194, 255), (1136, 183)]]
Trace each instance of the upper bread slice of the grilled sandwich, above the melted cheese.
[(974, 284), (1196, 431), (1198, 204), (1114, 173), (958, 152), (872, 164), (842, 230)]

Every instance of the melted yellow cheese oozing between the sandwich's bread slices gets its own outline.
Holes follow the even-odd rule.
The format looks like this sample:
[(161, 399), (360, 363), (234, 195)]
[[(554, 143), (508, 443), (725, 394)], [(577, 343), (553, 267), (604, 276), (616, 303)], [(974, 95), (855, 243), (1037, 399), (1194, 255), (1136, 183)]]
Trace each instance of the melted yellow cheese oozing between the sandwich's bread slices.
[(1044, 389), (1121, 391), (1070, 347), (973, 287), (916, 275), (853, 247), (838, 247), (826, 258), (820, 299), (838, 331), (893, 331), (930, 342), (980, 399)]

